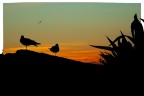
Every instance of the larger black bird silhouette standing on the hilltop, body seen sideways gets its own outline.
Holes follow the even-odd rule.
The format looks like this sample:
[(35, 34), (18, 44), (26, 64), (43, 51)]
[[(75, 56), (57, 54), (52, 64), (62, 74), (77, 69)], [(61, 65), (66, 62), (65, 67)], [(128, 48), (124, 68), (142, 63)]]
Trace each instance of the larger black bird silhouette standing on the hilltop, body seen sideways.
[(29, 45), (34, 45), (37, 47), (37, 45), (39, 45), (40, 43), (37, 43), (36, 41), (34, 40), (31, 40), (29, 38), (25, 38), (23, 35), (21, 36), (20, 38), (20, 42), (26, 46), (26, 50), (27, 50), (27, 46)]

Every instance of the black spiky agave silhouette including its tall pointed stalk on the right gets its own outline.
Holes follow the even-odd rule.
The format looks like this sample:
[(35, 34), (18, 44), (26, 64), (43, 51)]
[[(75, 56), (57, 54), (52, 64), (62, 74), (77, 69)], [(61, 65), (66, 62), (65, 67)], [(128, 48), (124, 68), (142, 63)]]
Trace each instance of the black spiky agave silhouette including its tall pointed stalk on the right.
[[(134, 18), (137, 19), (137, 15), (135, 14)], [(137, 19), (139, 26), (141, 27), (140, 22)], [(136, 22), (136, 23), (137, 23)], [(133, 35), (135, 34), (137, 37), (135, 38), (133, 35), (127, 36), (124, 35), (121, 31), (121, 35), (118, 36), (115, 40), (111, 40), (107, 37), (110, 42), (109, 46), (97, 46), (90, 45), (94, 48), (104, 49), (106, 52), (101, 52), (101, 57), (99, 61), (104, 65), (119, 65), (119, 64), (135, 64), (138, 61), (143, 61), (144, 58), (141, 58), (141, 54), (144, 54), (144, 32), (138, 25), (135, 24), (135, 20), (131, 23), (134, 27), (132, 28)], [(135, 31), (136, 30), (136, 31)], [(140, 31), (140, 32), (139, 32)], [(135, 33), (134, 33), (135, 32)], [(141, 59), (141, 60), (139, 60)]]

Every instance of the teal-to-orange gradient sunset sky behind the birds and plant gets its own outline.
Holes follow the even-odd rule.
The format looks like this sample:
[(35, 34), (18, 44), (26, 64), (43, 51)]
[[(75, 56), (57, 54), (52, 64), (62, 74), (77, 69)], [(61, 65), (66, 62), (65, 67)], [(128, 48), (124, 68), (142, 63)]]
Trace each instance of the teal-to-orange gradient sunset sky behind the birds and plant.
[(107, 46), (105, 35), (113, 40), (120, 30), (131, 35), (134, 14), (141, 16), (140, 3), (4, 3), (3, 7), (5, 53), (24, 49), (19, 42), (24, 35), (41, 43), (29, 50), (52, 54), (48, 48), (58, 43), (58, 56), (84, 62), (100, 58), (101, 50), (89, 44)]

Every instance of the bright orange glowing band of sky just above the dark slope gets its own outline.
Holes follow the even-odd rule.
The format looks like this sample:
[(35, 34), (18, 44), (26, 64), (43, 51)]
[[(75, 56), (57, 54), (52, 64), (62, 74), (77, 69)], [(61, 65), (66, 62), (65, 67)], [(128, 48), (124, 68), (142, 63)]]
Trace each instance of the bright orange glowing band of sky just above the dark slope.
[[(85, 48), (73, 48), (70, 49), (70, 46), (67, 47), (60, 47), (60, 51), (57, 53), (57, 56), (64, 57), (76, 61), (86, 62), (86, 63), (94, 63), (99, 64), (99, 59), (101, 58), (99, 55), (99, 50), (96, 48), (85, 49)], [(25, 47), (17, 47), (17, 48), (5, 48), (3, 50), (3, 54), (6, 53), (15, 53), (17, 50), (25, 49)], [(49, 55), (54, 55), (48, 47), (45, 46), (29, 46), (28, 50), (39, 52), (39, 53), (46, 53)]]

